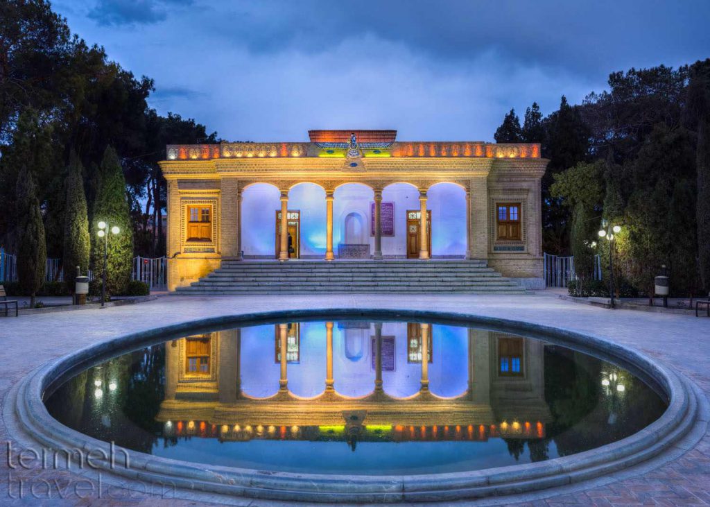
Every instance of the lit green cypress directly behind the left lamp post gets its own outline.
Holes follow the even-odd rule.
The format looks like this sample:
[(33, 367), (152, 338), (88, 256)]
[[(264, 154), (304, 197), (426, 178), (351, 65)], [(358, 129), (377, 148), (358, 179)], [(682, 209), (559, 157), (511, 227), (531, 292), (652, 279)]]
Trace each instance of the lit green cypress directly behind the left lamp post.
[(99, 222), (106, 222), (109, 229), (119, 227), (119, 234), (107, 229), (107, 294), (124, 293), (131, 281), (133, 263), (133, 227), (129, 203), (126, 197), (126, 180), (119, 157), (111, 146), (104, 151), (101, 162), (101, 185), (97, 190), (92, 217), (92, 266), (94, 280), (102, 280), (104, 273), (104, 245), (106, 238), (99, 238)]

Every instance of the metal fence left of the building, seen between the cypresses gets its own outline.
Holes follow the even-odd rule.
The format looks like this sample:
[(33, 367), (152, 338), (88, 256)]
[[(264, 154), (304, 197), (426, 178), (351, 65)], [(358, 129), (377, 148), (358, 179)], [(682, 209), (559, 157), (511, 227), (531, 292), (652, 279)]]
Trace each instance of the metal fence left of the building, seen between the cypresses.
[[(166, 282), (167, 260), (165, 257), (146, 258), (134, 257), (131, 267), (131, 280), (140, 280), (148, 284), (151, 290), (161, 290), (168, 287)], [(93, 280), (93, 273), (89, 270), (89, 280)], [(45, 280), (63, 281), (64, 270), (61, 259), (48, 258)], [(0, 249), (0, 283), (17, 281), (17, 256), (8, 254)]]

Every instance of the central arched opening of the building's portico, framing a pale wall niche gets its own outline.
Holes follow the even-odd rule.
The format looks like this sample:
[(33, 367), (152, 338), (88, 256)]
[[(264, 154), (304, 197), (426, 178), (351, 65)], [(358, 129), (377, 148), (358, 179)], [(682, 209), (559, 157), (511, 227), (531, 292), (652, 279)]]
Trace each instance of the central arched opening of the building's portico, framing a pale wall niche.
[(333, 243), (339, 258), (370, 258), (373, 191), (361, 183), (345, 183), (333, 192)]

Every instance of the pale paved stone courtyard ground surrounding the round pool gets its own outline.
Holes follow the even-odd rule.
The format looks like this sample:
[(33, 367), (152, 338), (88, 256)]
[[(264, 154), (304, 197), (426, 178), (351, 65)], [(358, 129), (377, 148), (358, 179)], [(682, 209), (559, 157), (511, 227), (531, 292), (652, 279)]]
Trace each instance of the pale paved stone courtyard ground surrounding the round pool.
[[(87, 344), (99, 342), (119, 333), (149, 329), (200, 317), (316, 307), (387, 307), (469, 312), (493, 317), (515, 318), (542, 325), (566, 327), (613, 342), (635, 347), (672, 366), (710, 393), (710, 319), (685, 315), (604, 310), (559, 300), (554, 293), (536, 295), (323, 295), (323, 296), (255, 296), (255, 297), (173, 297), (168, 296), (139, 305), (111, 307), (104, 310), (21, 317), (0, 317), (0, 395), (40, 364), (67, 354)], [(31, 505), (63, 503), (87, 505), (97, 503), (97, 482), (85, 498), (77, 496), (75, 487), (80, 476), (56, 469), (11, 469), (4, 441), (13, 442), (12, 427), (0, 423), (2, 456), (0, 467), (0, 501), (17, 503), (19, 480), (24, 479), (24, 500)], [(20, 440), (23, 440), (20, 438)], [(654, 468), (655, 467), (655, 468)], [(41, 481), (44, 479), (46, 482)], [(670, 462), (658, 467), (641, 464), (586, 484), (584, 489), (547, 490), (537, 500), (525, 505), (710, 505), (710, 434)], [(34, 486), (31, 491), (30, 486)], [(69, 486), (67, 488), (67, 486)], [(87, 484), (84, 484), (87, 486)], [(133, 486), (129, 481), (126, 486)], [(109, 489), (110, 488), (110, 489)], [(182, 495), (182, 492), (180, 492)], [(48, 498), (37, 501), (35, 498)], [(116, 504), (160, 503), (159, 496), (140, 490), (117, 489), (104, 484), (102, 500)], [(546, 498), (542, 498), (545, 496)], [(166, 505), (187, 505), (206, 501), (226, 501), (219, 496), (185, 493), (182, 501), (163, 501)], [(239, 502), (239, 501), (238, 501)], [(266, 505), (261, 501), (242, 501), (242, 505)]]

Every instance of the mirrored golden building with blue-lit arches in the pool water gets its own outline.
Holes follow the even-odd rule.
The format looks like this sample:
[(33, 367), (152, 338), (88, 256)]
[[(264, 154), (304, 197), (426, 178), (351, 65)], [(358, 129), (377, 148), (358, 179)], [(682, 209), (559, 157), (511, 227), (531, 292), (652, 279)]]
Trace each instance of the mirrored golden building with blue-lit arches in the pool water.
[[(302, 322), (166, 345), (166, 435), (540, 438), (544, 344), (420, 323)], [(281, 351), (286, 354), (281, 354)]]

